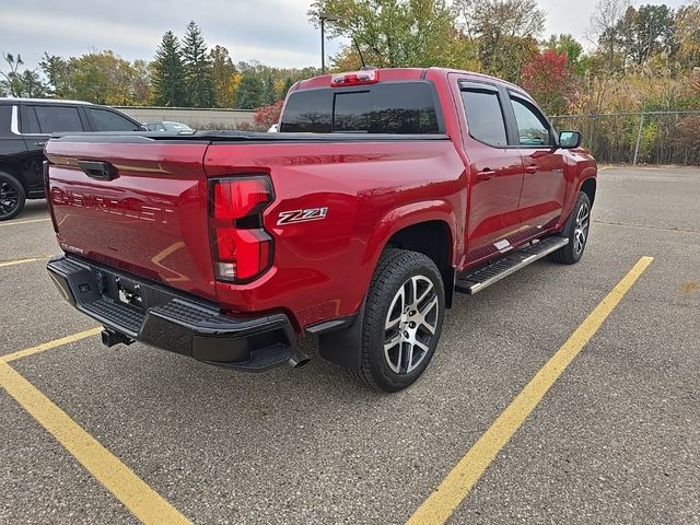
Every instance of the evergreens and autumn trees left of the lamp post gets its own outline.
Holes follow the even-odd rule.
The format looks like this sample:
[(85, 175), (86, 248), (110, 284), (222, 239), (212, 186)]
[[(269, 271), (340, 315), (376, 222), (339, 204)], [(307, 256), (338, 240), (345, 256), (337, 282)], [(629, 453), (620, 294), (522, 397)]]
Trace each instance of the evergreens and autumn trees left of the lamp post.
[(182, 37), (167, 31), (150, 62), (129, 61), (112, 50), (68, 58), (45, 52), (36, 70), (22, 70), (21, 55), (7, 54), (3, 59), (8, 71), (0, 73), (0, 96), (50, 96), (117, 106), (255, 109), (284, 98), (295, 81), (319, 72), (314, 67), (234, 63), (225, 47), (209, 48), (195, 22)]

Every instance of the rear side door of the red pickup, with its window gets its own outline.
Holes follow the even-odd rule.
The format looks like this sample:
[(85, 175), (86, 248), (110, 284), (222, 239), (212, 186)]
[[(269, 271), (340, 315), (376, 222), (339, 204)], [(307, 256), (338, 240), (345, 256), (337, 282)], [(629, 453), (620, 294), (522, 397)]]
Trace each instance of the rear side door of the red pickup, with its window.
[(518, 203), (523, 163), (517, 149), (509, 148), (503, 93), (495, 84), (458, 83), (468, 135), (467, 264), (512, 247), (509, 237), (521, 228)]

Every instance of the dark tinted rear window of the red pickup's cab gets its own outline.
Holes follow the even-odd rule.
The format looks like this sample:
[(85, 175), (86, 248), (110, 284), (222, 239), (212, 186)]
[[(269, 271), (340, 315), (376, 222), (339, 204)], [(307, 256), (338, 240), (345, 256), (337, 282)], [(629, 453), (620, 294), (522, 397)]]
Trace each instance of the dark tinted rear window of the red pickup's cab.
[(280, 131), (311, 133), (439, 133), (428, 82), (306, 90), (287, 101)]

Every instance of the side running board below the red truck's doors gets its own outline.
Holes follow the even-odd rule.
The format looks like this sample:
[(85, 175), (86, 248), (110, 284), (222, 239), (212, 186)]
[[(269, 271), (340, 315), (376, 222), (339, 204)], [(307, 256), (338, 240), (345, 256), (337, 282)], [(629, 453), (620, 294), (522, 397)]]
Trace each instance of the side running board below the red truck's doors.
[(547, 237), (535, 242), (529, 246), (508, 254), (487, 267), (480, 268), (470, 273), (460, 273), (455, 282), (455, 290), (462, 293), (474, 295), (504, 277), (516, 272), (521, 268), (541, 259), (546, 255), (565, 246), (569, 240), (565, 237)]

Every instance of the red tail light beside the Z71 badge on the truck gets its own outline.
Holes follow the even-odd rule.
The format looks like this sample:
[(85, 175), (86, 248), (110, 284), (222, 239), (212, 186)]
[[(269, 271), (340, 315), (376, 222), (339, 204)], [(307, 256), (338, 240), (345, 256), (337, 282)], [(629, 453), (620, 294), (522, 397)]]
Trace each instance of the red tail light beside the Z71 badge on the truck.
[(267, 176), (211, 180), (209, 221), (217, 280), (249, 282), (272, 265), (272, 237), (262, 229), (262, 210), (272, 199)]

